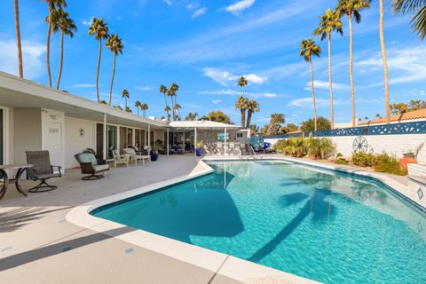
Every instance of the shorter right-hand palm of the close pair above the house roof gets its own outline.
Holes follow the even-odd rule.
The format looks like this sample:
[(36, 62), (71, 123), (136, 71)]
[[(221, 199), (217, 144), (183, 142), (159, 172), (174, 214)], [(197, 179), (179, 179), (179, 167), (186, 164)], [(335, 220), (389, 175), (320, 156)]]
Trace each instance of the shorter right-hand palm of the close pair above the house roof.
[(74, 20), (69, 18), (69, 13), (65, 12), (62, 8), (51, 12), (51, 30), (56, 34), (60, 30), (60, 58), (59, 58), (59, 72), (58, 80), (56, 82), (56, 89), (59, 90), (60, 77), (62, 75), (62, 66), (64, 62), (64, 36), (67, 35), (71, 38), (77, 30)]

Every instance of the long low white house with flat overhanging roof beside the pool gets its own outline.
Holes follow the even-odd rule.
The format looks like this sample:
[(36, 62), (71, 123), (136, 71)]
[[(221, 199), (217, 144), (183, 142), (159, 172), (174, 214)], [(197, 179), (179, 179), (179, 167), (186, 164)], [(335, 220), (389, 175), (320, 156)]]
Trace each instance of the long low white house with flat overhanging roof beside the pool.
[[(0, 164), (25, 163), (26, 151), (49, 150), (51, 163), (68, 169), (78, 165), (74, 155), (85, 148), (111, 159), (114, 149), (152, 145), (156, 140), (167, 142), (168, 132), (171, 144), (178, 138), (175, 133), (182, 129), (197, 129), (199, 137), (211, 139), (214, 137), (209, 132), (226, 129), (233, 141), (237, 139), (239, 128), (235, 125), (191, 124), (129, 114), (0, 72)], [(193, 137), (186, 137), (185, 141), (194, 144)]]

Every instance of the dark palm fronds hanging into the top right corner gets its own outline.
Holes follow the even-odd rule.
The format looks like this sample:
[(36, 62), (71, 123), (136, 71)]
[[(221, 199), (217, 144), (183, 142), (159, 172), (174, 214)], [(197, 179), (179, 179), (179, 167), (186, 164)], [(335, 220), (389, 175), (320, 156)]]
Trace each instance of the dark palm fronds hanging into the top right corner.
[(411, 22), (413, 30), (423, 40), (426, 36), (426, 0), (393, 0), (392, 3), (395, 12), (417, 12)]

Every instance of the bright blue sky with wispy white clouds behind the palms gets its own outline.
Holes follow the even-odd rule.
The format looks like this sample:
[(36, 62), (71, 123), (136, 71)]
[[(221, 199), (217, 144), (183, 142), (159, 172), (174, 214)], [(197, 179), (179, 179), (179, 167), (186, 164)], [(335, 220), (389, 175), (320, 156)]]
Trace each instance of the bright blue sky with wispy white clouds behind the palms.
[[(98, 43), (87, 35), (92, 17), (105, 18), (111, 33), (122, 37), (124, 50), (117, 59), (113, 104), (123, 104), (123, 88), (130, 104), (149, 105), (148, 115), (163, 114), (159, 86), (180, 85), (182, 115), (223, 110), (233, 122), (233, 108), (241, 93), (237, 77), (248, 77), (248, 97), (259, 101), (261, 112), (253, 122), (264, 125), (272, 113), (287, 115), (287, 122), (312, 117), (309, 66), (298, 56), (303, 38), (312, 35), (319, 15), (336, 1), (282, 0), (68, 0), (75, 20), (75, 38), (66, 39), (61, 89), (96, 99), (94, 88)], [(385, 41), (390, 65), (392, 102), (426, 99), (426, 53), (409, 26), (411, 15), (385, 13)], [(47, 7), (42, 1), (20, 1), (24, 75), (47, 83), (44, 66)], [(0, 9), (0, 70), (16, 74), (13, 2)], [(354, 81), (357, 116), (384, 114), (383, 66), (378, 35), (378, 3), (362, 12), (354, 25)], [(343, 37), (332, 37), (335, 83), (335, 121), (351, 119), (348, 75), (349, 37), (343, 18)], [(327, 42), (317, 42), (323, 52), (315, 59), (314, 77), (319, 115), (329, 116)], [(104, 49), (100, 73), (101, 99), (107, 99), (113, 56)], [(59, 36), (51, 43), (51, 72), (56, 82)]]

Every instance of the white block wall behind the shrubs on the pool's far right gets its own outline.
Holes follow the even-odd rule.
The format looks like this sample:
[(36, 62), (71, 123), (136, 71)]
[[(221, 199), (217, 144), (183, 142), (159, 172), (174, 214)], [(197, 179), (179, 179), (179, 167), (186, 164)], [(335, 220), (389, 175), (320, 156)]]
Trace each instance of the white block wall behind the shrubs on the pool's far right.
[[(336, 146), (337, 153), (340, 152), (343, 156), (351, 156), (352, 143), (358, 136), (339, 136), (327, 137), (332, 139)], [(368, 150), (372, 148), (375, 154), (386, 152), (395, 155), (397, 159), (402, 158), (403, 154), (411, 151), (416, 152), (417, 148), (424, 143), (419, 151), (417, 160), (419, 163), (426, 164), (426, 134), (404, 134), (404, 135), (366, 135)], [(265, 142), (272, 145), (277, 143), (279, 138), (264, 138)]]

